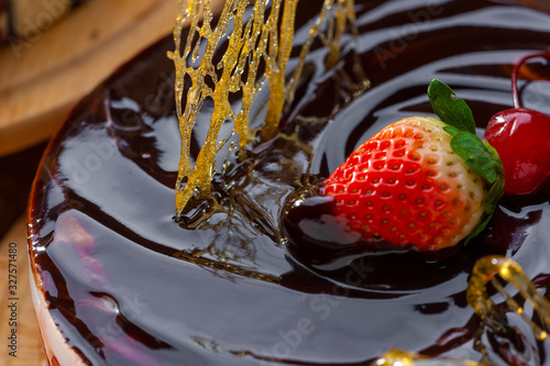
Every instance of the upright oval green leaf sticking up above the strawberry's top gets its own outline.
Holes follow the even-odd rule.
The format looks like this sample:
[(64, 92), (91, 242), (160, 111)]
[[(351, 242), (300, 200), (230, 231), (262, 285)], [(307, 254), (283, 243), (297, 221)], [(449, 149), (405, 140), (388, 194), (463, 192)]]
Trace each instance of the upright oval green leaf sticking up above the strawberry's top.
[(438, 79), (431, 80), (428, 87), (428, 97), (433, 112), (441, 121), (461, 131), (475, 133), (472, 110), (465, 101), (457, 98), (457, 93), (447, 84)]

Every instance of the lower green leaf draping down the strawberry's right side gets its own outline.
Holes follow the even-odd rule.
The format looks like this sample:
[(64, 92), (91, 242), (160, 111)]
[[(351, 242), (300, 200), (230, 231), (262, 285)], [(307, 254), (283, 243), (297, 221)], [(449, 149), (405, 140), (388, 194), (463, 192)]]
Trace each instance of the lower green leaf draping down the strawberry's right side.
[(462, 157), (464, 163), (490, 185), (490, 191), (484, 202), (485, 217), (465, 240), (465, 244), (468, 244), (472, 237), (479, 235), (487, 226), (493, 217), (504, 191), (504, 168), (498, 153), (486, 141), (454, 126), (447, 126), (444, 130), (452, 135), (451, 147), (454, 153)]

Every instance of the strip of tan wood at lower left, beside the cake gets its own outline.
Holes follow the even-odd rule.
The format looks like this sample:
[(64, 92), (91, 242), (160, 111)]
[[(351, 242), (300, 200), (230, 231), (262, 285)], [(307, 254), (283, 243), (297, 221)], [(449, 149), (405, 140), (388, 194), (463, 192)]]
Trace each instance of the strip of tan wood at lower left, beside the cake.
[[(10, 285), (8, 276), (10, 243), (16, 245), (15, 262), (12, 262), (16, 267), (11, 267), (16, 269), (13, 274), (16, 277), (14, 297), (16, 300), (9, 300), (13, 298), (8, 287)], [(26, 225), (25, 218), (22, 217), (0, 242), (0, 365), (3, 366), (47, 365), (34, 314), (29, 277)], [(16, 303), (16, 326), (10, 326), (12, 314), (8, 306), (12, 302)], [(16, 357), (10, 356), (9, 353), (12, 351), (7, 347), (12, 329), (16, 331)]]

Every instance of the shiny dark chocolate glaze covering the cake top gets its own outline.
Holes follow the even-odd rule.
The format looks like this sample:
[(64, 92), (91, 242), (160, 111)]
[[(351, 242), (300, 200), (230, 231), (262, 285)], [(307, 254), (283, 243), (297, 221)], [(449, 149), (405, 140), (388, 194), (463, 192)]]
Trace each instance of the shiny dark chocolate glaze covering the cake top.
[[(299, 8), (304, 26), (317, 10)], [(344, 36), (342, 63), (324, 69), (326, 51), (315, 47), (280, 135), (251, 147), (244, 162), (232, 157), (213, 193), (179, 223), (172, 41), (125, 65), (72, 113), (36, 176), (30, 243), (51, 314), (86, 362), (367, 365), (391, 347), (476, 361), (485, 347), (495, 364), (550, 364), (548, 343), (483, 328), (465, 301), (472, 265), (486, 254), (513, 256), (547, 286), (548, 192), (505, 198), (490, 228), (447, 258), (369, 252), (327, 266), (285, 246), (279, 219), (289, 196), (387, 123), (432, 115), (432, 77), (469, 102), (483, 133), (512, 106), (512, 64), (550, 47), (550, 15), (510, 1), (363, 0), (356, 9), (361, 36)], [(372, 82), (359, 97), (355, 57)], [(529, 70), (548, 80), (543, 66)], [(524, 86), (526, 107), (550, 113), (547, 84)]]

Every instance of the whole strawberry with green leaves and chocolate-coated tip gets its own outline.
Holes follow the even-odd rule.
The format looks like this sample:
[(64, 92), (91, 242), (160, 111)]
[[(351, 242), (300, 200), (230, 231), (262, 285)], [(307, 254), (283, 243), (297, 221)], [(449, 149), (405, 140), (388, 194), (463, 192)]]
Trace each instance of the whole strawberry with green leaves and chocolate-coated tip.
[(439, 251), (483, 231), (503, 195), (501, 158), (447, 85), (433, 79), (428, 96), (440, 120), (389, 124), (290, 197), (282, 226), (292, 251), (331, 263), (384, 244)]

